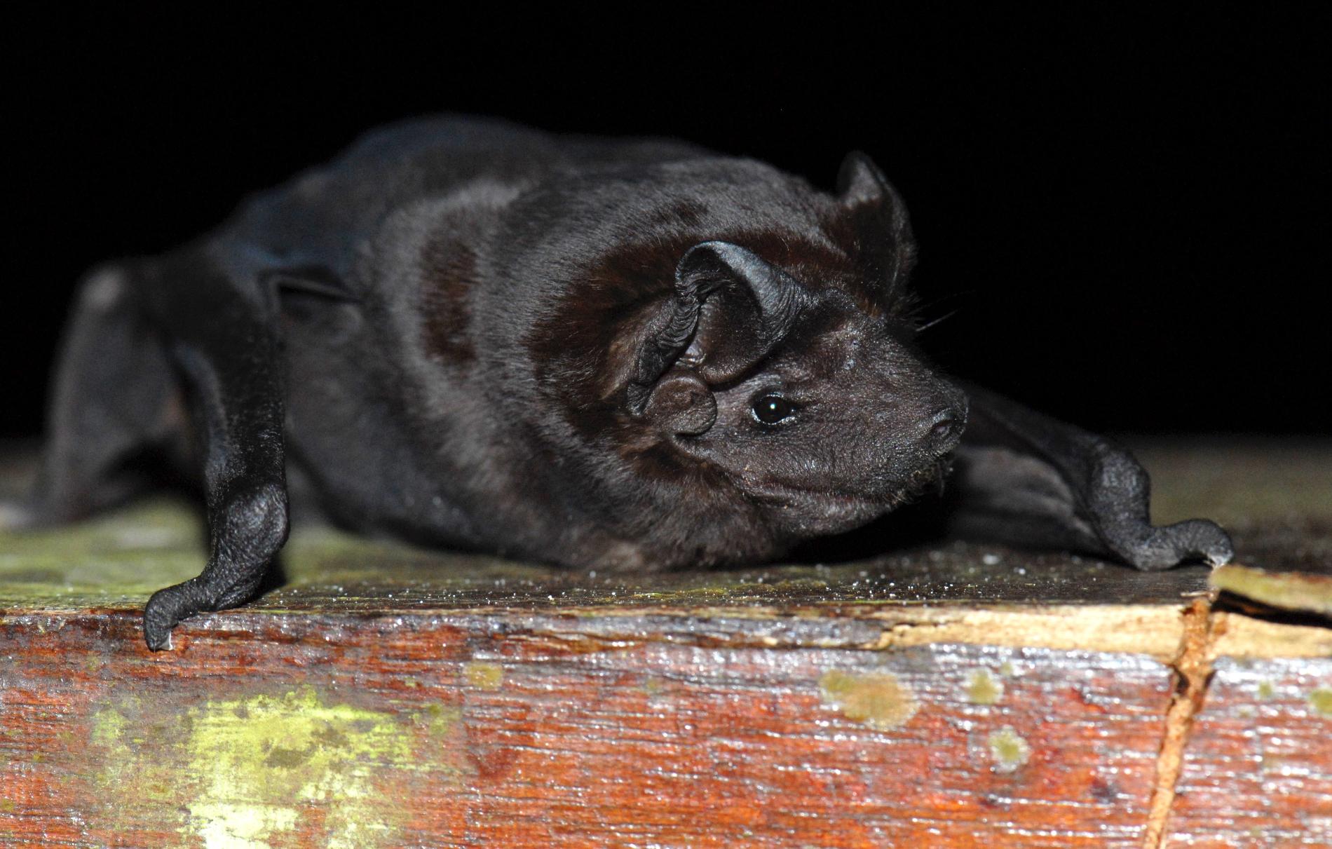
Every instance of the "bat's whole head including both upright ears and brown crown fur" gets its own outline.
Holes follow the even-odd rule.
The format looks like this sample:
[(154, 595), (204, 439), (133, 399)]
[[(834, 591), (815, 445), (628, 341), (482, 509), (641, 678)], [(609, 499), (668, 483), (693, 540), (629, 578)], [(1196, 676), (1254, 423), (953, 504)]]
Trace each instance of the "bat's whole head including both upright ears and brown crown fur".
[(675, 255), (673, 291), (625, 308), (609, 345), (607, 444), (653, 485), (738, 492), (781, 538), (846, 530), (908, 498), (967, 420), (895, 305), (914, 252), (898, 195), (852, 155), (834, 203), (819, 197), (807, 251), (791, 245), (809, 225), (697, 241)]

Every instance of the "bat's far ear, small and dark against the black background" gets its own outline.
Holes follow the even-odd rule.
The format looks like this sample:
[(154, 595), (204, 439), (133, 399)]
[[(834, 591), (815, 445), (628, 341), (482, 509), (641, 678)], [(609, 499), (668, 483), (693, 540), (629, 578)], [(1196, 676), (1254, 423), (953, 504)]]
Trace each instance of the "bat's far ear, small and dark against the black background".
[(915, 237), (898, 191), (860, 151), (851, 151), (842, 160), (836, 191), (860, 244), (867, 245), (875, 264), (887, 271), (887, 284), (904, 280), (915, 264)]

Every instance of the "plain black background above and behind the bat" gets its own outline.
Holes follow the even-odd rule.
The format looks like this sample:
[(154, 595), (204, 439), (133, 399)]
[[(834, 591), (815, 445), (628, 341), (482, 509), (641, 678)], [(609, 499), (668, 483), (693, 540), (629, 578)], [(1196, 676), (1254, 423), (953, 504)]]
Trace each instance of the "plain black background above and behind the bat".
[(1325, 7), (274, 5), (12, 13), (0, 434), (40, 429), (89, 265), (441, 109), (681, 136), (821, 185), (864, 149), (911, 208), (928, 315), (958, 311), (923, 339), (946, 368), (1102, 430), (1329, 430)]

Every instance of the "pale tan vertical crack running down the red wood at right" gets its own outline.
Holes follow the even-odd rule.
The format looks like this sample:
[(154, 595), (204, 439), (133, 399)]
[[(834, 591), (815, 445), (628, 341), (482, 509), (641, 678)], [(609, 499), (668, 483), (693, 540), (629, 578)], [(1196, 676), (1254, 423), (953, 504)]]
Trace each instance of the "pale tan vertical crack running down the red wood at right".
[(1156, 756), (1156, 782), (1147, 813), (1143, 849), (1164, 849), (1166, 828), (1175, 806), (1175, 788), (1184, 768), (1188, 733), (1207, 698), (1212, 680), (1212, 649), (1216, 641), (1216, 621), (1212, 616), (1215, 597), (1193, 601), (1181, 612), (1184, 633), (1179, 652), (1171, 661), (1175, 674), (1175, 693), (1166, 709), (1166, 730)]

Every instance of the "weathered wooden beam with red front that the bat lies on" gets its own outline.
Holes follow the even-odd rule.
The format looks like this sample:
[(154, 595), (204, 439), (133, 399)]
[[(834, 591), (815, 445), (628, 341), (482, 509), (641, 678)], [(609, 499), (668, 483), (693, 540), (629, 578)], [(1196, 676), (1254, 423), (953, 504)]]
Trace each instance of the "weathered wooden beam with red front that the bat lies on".
[[(186, 509), (3, 536), (0, 845), (1327, 845), (1332, 629), (1281, 609), (1332, 572), (1307, 452), (1146, 452), (1164, 518), (1268, 569), (1224, 593), (962, 542), (626, 578), (304, 528), (155, 654)], [(1197, 485), (1228, 461), (1247, 502)]]

